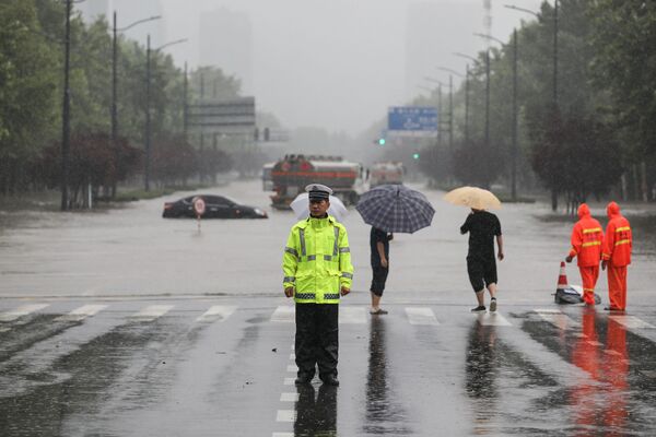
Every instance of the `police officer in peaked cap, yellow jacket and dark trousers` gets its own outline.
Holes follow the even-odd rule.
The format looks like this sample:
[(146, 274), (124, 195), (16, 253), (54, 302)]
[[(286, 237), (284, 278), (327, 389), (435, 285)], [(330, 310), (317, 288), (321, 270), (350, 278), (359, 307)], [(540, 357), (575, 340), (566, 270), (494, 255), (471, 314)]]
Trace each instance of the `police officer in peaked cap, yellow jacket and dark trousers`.
[(324, 383), (339, 386), (339, 299), (349, 294), (353, 265), (345, 227), (328, 215), (332, 190), (320, 184), (305, 187), (309, 216), (288, 237), (282, 261), (286, 297), (296, 303), (296, 383), (308, 383), (319, 368)]

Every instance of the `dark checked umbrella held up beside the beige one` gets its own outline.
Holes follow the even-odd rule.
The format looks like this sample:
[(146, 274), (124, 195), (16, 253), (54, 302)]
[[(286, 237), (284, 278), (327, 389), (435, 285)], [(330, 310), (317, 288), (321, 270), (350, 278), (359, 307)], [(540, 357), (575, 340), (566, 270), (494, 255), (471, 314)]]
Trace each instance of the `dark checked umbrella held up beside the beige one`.
[(424, 194), (402, 185), (382, 185), (365, 192), (355, 209), (364, 223), (390, 233), (412, 234), (430, 226), (435, 214)]

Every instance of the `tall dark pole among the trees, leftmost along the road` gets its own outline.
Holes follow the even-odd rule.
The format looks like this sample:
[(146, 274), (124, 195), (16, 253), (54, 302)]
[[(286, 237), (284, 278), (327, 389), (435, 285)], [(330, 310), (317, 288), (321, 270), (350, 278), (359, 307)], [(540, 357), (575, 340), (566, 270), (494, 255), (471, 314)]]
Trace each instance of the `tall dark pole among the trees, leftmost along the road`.
[(63, 107), (61, 110), (61, 211), (69, 210), (69, 174), (71, 151), (71, 9), (72, 0), (66, 0), (66, 36), (63, 55)]

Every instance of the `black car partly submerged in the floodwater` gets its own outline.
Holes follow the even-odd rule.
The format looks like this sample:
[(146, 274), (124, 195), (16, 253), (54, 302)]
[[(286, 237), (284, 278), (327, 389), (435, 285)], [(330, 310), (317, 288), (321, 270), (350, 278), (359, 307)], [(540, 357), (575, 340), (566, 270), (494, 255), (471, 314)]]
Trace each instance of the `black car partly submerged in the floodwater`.
[(267, 218), (267, 212), (256, 206), (248, 206), (225, 196), (197, 194), (183, 198), (175, 202), (164, 203), (164, 218), (191, 217), (196, 218), (194, 200), (200, 198), (204, 202), (202, 218)]

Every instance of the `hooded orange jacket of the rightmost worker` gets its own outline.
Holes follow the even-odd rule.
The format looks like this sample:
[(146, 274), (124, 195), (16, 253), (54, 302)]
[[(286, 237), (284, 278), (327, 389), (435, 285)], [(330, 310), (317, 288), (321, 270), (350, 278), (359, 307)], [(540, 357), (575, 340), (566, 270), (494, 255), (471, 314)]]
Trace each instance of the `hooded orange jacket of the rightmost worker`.
[(623, 267), (631, 263), (631, 249), (633, 248), (633, 235), (629, 221), (620, 214), (620, 205), (610, 202), (606, 206), (608, 214), (608, 226), (604, 238), (604, 251), (601, 259), (610, 261), (612, 267)]

